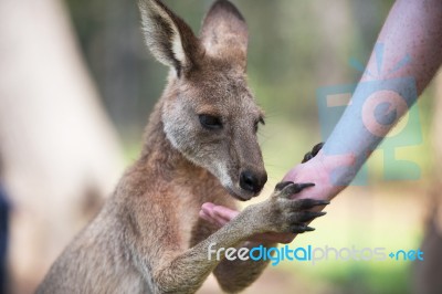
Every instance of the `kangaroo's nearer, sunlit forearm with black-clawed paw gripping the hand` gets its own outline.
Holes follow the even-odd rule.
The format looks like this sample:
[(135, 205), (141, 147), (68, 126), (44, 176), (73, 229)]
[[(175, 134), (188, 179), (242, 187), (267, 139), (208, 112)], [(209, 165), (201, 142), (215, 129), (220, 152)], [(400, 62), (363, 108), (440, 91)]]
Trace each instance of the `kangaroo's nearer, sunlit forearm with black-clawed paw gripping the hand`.
[[(236, 248), (256, 233), (309, 231), (311, 228), (304, 223), (322, 216), (309, 210), (328, 202), (313, 199), (290, 199), (290, 196), (308, 187), (312, 187), (312, 183), (280, 183), (270, 199), (245, 208), (228, 224), (182, 254), (176, 254), (173, 250), (169, 250), (150, 254), (150, 256), (164, 256), (156, 261), (145, 258), (139, 267), (154, 267), (152, 275), (145, 276), (147, 281), (152, 280), (150, 284), (155, 285), (154, 293), (194, 293), (210, 272), (224, 259), (224, 254), (218, 254), (218, 252), (228, 248)], [(166, 246), (167, 244), (162, 244), (162, 246), (157, 244), (159, 250)], [(148, 252), (143, 245), (135, 251)], [(138, 256), (146, 255), (138, 254)], [(155, 266), (151, 266), (152, 262)], [(262, 269), (257, 266), (254, 270), (257, 275)]]

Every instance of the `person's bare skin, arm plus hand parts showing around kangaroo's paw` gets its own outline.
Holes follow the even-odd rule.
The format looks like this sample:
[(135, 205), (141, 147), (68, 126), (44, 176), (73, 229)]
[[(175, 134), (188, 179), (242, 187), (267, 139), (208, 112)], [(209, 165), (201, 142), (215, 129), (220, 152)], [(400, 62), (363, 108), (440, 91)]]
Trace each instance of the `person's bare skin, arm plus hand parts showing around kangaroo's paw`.
[[(383, 81), (385, 86), (391, 88), (390, 93), (387, 95), (382, 93), (382, 97), (379, 98), (388, 103), (390, 109), (397, 111), (394, 122), (387, 126), (376, 124), (376, 122), (360, 124), (361, 117), (372, 114), (368, 111), (360, 113), (348, 107), (318, 155), (305, 164), (295, 166), (283, 178), (284, 181), (315, 183), (315, 187), (308, 191), (293, 196), (294, 199), (308, 197), (332, 200), (347, 187), (371, 151), (414, 103), (414, 99), (411, 98), (407, 101), (408, 107), (403, 107), (403, 101), (397, 99), (394, 96), (397, 93), (407, 92), (408, 84), (391, 81), (401, 77), (414, 78), (417, 96), (419, 96), (440, 67), (442, 63), (441, 28), (441, 1), (396, 1), (377, 41), (378, 44), (383, 44), (385, 49), (382, 69), (376, 76), (368, 74), (368, 72), (378, 73), (377, 56), (373, 51), (366, 66), (366, 74), (361, 77), (361, 82)], [(409, 56), (410, 62), (396, 70), (398, 62), (404, 56)], [(366, 99), (367, 96), (358, 86), (352, 102), (364, 104)], [(370, 132), (366, 132), (366, 129)], [(200, 211), (201, 218), (218, 225), (228, 223), (236, 214), (238, 211), (210, 203), (204, 203)], [(295, 234), (266, 234), (259, 238), (262, 241), (291, 242), (294, 237)]]

